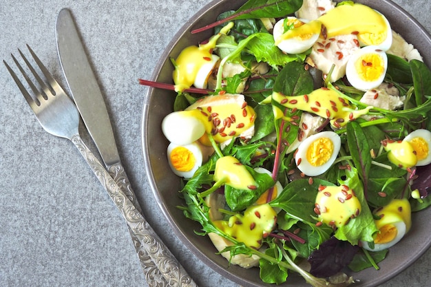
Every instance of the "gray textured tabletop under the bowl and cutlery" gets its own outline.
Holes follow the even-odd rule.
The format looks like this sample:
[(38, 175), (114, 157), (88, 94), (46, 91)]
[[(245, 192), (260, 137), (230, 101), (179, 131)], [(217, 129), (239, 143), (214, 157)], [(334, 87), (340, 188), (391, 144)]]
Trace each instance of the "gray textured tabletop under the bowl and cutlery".
[[(65, 86), (54, 23), (72, 10), (103, 86), (145, 216), (200, 286), (236, 286), (169, 231), (147, 185), (140, 116), (149, 78), (180, 26), (209, 0), (2, 1), (0, 58), (28, 43)], [(396, 0), (431, 31), (428, 0)], [(146, 286), (126, 225), (72, 143), (45, 133), (0, 67), (0, 286)], [(429, 286), (428, 251), (384, 287)], [(400, 262), (402, 264), (402, 262)]]

